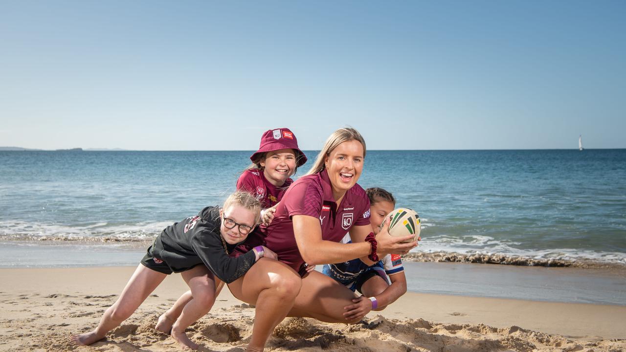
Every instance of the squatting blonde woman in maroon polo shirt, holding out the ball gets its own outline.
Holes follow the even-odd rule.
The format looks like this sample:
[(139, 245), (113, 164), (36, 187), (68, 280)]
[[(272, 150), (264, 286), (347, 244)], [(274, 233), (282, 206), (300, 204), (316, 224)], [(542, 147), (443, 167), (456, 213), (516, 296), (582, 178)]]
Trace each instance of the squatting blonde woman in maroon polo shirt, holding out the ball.
[[(279, 261), (262, 260), (228, 284), (233, 296), (255, 304), (249, 351), (262, 351), (285, 316), (304, 316), (330, 323), (358, 323), (354, 292), (312, 264), (360, 258), (372, 265), (389, 253), (405, 254), (417, 242), (412, 236), (389, 236), (389, 222), (375, 236), (370, 204), (356, 182), (365, 158), (365, 141), (354, 128), (340, 128), (327, 139), (307, 175), (290, 185), (276, 207), (274, 220), (255, 230), (234, 255), (248, 254), (256, 244), (272, 249)], [(352, 243), (339, 243), (349, 232)], [(376, 299), (367, 299), (376, 308)]]

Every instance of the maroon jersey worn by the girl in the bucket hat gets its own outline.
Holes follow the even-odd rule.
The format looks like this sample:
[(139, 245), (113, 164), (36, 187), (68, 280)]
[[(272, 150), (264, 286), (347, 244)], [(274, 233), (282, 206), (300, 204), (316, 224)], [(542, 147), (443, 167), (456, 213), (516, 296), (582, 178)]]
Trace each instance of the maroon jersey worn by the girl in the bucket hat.
[(274, 207), (280, 202), (285, 190), (294, 182), (292, 179), (285, 180), (281, 187), (270, 184), (265, 179), (263, 172), (258, 168), (249, 168), (241, 174), (237, 180), (237, 190), (247, 190), (260, 200), (263, 209)]

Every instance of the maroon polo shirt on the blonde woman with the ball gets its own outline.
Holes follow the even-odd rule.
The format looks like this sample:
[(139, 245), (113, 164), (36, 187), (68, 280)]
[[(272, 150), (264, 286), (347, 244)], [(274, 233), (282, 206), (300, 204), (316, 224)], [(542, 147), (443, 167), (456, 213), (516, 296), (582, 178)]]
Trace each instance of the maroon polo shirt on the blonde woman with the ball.
[(322, 239), (340, 242), (352, 226), (369, 225), (369, 199), (365, 190), (356, 184), (337, 207), (326, 170), (300, 177), (285, 192), (272, 223), (252, 232), (245, 244), (235, 249), (238, 252), (235, 256), (264, 244), (276, 252), (279, 261), (304, 276), (304, 260), (295, 243), (293, 215), (316, 217), (322, 227)]

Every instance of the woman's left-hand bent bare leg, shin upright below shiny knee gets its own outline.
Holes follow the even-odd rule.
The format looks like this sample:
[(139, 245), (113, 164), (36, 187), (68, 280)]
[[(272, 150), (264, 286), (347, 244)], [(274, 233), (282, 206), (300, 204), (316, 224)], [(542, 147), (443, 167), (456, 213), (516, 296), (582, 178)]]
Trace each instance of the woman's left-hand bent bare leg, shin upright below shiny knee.
[(265, 341), (292, 308), (301, 282), (294, 269), (274, 259), (261, 258), (243, 277), (228, 284), (233, 296), (256, 306), (247, 351), (263, 351)]

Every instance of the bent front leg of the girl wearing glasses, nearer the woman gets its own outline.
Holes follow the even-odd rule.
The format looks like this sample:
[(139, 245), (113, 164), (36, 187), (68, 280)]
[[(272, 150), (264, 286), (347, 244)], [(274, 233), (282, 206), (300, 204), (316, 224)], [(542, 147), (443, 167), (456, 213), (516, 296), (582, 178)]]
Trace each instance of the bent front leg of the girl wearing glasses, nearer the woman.
[(188, 338), (185, 329), (211, 310), (216, 296), (215, 277), (203, 265), (195, 266), (181, 274), (190, 288), (192, 299), (188, 300), (180, 316), (173, 323), (172, 338), (178, 341), (183, 348), (197, 349), (198, 345)]

